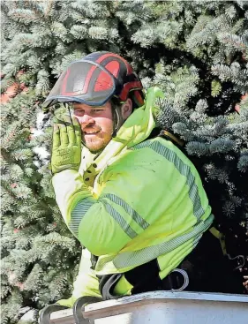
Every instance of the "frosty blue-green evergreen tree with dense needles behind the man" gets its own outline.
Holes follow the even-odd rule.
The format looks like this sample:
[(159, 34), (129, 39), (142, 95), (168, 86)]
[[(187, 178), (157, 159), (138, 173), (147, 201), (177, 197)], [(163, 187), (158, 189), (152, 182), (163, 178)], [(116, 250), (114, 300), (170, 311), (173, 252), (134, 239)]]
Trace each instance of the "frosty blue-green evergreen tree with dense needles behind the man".
[[(96, 50), (125, 57), (146, 88), (162, 87), (158, 125), (184, 139), (229, 237), (230, 256), (246, 258), (236, 265), (246, 275), (246, 2), (1, 5), (3, 322), (16, 322), (25, 306), (40, 309), (70, 296), (80, 247), (54, 201), (47, 163), (55, 111), (43, 114), (41, 102), (67, 64)], [(7, 101), (10, 89), (18, 94)]]

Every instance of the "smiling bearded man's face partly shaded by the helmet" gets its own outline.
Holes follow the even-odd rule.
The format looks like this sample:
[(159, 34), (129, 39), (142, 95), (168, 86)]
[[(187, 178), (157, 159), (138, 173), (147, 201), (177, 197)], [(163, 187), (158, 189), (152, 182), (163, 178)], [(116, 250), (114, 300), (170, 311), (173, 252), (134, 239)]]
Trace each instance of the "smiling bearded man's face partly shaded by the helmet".
[(93, 153), (109, 144), (113, 134), (113, 116), (111, 103), (100, 107), (88, 106), (85, 103), (73, 103), (73, 115), (79, 120), (82, 139), (86, 147)]

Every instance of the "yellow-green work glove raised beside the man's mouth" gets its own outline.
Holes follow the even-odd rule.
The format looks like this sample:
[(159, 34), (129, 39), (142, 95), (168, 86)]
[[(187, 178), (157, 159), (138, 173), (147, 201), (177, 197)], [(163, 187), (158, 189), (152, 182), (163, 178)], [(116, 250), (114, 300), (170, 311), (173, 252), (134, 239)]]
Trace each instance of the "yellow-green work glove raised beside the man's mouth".
[(79, 170), (81, 162), (81, 128), (78, 119), (64, 115), (53, 129), (51, 171)]

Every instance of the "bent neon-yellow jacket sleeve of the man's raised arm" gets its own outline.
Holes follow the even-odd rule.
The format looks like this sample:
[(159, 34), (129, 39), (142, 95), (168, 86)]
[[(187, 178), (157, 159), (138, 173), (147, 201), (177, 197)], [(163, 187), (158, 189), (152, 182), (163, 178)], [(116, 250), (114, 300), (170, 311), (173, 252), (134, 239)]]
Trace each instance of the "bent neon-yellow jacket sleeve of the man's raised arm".
[(155, 210), (161, 215), (156, 206), (159, 201), (163, 200), (163, 207), (167, 205), (166, 179), (160, 173), (166, 170), (162, 159), (141, 161), (135, 167), (125, 164), (118, 167), (116, 163), (117, 169), (110, 166), (108, 172), (104, 171), (108, 177), (102, 180), (98, 198), (87, 190), (75, 170), (64, 170), (53, 177), (56, 202), (64, 221), (96, 256), (119, 252), (154, 222)]

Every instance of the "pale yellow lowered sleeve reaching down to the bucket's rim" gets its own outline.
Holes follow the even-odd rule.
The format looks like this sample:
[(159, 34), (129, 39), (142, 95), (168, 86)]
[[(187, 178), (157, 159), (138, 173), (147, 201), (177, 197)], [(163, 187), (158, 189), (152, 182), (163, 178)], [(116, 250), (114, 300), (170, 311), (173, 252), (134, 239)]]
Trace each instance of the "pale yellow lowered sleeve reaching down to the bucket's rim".
[(73, 283), (71, 298), (58, 300), (56, 304), (72, 307), (77, 299), (84, 296), (101, 298), (99, 281), (94, 274), (94, 270), (91, 269), (90, 252), (86, 249), (83, 249), (82, 251), (82, 257), (79, 264), (79, 274)]

